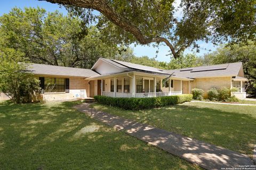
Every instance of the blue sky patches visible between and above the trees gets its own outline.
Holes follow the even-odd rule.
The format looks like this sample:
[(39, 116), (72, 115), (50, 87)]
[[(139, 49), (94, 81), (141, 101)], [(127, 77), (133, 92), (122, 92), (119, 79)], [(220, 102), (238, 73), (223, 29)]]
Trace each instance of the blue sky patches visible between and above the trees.
[[(178, 4), (180, 3), (180, 0), (176, 0), (175, 7), (178, 7)], [(64, 7), (60, 8), (58, 4), (52, 4), (46, 1), (36, 1), (36, 0), (11, 0), (11, 1), (2, 1), (1, 2), (1, 7), (0, 7), (0, 15), (3, 15), (4, 13), (9, 13), (9, 11), (13, 7), (42, 7), (45, 8), (46, 11), (53, 12), (55, 10), (59, 10), (63, 14), (67, 14), (67, 11)], [(177, 11), (174, 15), (177, 16), (177, 18), (180, 17), (181, 10)], [(201, 48), (206, 48), (207, 50), (200, 49), (200, 53), (197, 53), (198, 56), (203, 55), (204, 53), (209, 52), (209, 49), (215, 50), (216, 47), (213, 46), (212, 43), (206, 44), (203, 41), (198, 41), (198, 44), (201, 46)], [(131, 48), (134, 50), (134, 54), (136, 56), (149, 56), (150, 58), (156, 56), (156, 50), (157, 48), (154, 48), (153, 46), (141, 46), (137, 45), (134, 47), (134, 45), (131, 45)], [(170, 61), (170, 55), (166, 56), (166, 54), (169, 54), (168, 52), (169, 48), (162, 45), (159, 47), (159, 53), (157, 55), (156, 60), (158, 61), (165, 61), (169, 62)], [(186, 49), (185, 53), (195, 53), (191, 49)]]

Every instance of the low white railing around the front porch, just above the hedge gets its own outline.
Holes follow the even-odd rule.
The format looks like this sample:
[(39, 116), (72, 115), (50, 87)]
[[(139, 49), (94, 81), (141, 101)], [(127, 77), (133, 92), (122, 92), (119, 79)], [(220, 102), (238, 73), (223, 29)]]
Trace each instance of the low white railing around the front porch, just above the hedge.
[[(156, 97), (162, 97), (162, 96), (173, 96), (173, 95), (181, 95), (181, 91), (171, 91), (171, 92), (156, 92)], [(116, 92), (116, 95), (114, 92), (108, 92), (108, 91), (103, 91), (102, 92), (103, 96), (108, 96), (108, 97), (125, 97), (125, 98), (130, 98), (133, 97), (131, 93), (129, 92)], [(141, 92), (141, 93), (135, 93), (135, 98), (148, 98), (148, 97), (154, 97), (155, 93), (154, 92)]]

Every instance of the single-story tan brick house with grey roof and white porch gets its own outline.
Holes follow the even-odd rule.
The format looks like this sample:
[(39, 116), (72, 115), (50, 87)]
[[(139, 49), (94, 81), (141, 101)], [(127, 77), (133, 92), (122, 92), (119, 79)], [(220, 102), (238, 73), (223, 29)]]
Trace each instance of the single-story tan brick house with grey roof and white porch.
[(45, 100), (65, 100), (103, 95), (158, 97), (191, 94), (191, 89), (238, 88), (233, 94), (246, 98), (243, 65), (227, 63), (162, 70), (155, 67), (99, 58), (91, 69), (30, 64), (41, 81)]

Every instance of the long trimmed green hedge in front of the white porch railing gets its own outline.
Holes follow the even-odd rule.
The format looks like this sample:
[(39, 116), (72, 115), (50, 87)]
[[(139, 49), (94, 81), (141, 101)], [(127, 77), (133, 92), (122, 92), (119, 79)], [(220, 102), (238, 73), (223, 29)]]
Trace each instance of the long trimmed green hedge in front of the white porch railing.
[(191, 101), (193, 95), (178, 95), (150, 98), (115, 98), (107, 96), (94, 96), (101, 104), (120, 107), (126, 110), (139, 110), (145, 108), (161, 107)]

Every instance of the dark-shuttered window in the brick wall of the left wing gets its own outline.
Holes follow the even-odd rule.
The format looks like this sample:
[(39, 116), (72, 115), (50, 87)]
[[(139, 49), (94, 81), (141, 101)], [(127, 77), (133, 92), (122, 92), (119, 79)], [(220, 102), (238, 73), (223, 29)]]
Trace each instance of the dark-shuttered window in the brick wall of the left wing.
[(65, 92), (65, 79), (63, 78), (45, 78), (45, 92)]

